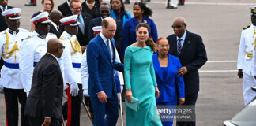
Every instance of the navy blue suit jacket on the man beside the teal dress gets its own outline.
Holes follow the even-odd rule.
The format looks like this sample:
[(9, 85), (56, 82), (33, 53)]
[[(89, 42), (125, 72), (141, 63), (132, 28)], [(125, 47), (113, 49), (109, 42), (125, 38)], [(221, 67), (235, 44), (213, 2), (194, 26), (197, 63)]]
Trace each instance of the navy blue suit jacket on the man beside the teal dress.
[[(114, 39), (111, 39), (111, 45), (114, 50), (113, 59), (115, 59)], [(115, 60), (113, 60), (113, 64), (111, 63), (111, 55), (100, 35), (97, 35), (88, 43), (86, 51), (89, 73), (88, 95), (97, 97), (96, 93), (100, 91), (104, 91), (107, 98), (116, 95), (113, 69), (123, 72), (123, 65), (115, 62)]]

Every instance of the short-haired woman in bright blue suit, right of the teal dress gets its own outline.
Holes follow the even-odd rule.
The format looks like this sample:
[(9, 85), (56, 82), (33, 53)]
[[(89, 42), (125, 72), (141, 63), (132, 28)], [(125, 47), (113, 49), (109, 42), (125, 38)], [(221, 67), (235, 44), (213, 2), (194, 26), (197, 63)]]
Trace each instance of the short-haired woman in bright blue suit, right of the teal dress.
[[(182, 65), (178, 57), (168, 54), (169, 44), (167, 39), (158, 39), (157, 48), (158, 52), (152, 56), (156, 73), (156, 83), (160, 91), (160, 96), (156, 99), (156, 105), (170, 106), (171, 109), (175, 109), (177, 102), (179, 105), (185, 102), (183, 77), (177, 75), (177, 71)], [(174, 114), (171, 113), (172, 116)], [(173, 118), (169, 118), (168, 120), (163, 119), (162, 124), (163, 126), (172, 126), (172, 121)]]

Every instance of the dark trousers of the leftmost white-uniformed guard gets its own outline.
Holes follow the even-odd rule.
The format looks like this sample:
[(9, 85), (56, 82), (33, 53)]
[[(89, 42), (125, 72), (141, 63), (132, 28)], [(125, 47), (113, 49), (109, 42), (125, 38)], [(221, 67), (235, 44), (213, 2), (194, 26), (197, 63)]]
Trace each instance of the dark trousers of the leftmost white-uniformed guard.
[(24, 116), (27, 95), (23, 89), (4, 88), (6, 100), (6, 125), (17, 126), (19, 118), (19, 106), (21, 104), (21, 126), (28, 126), (28, 118)]

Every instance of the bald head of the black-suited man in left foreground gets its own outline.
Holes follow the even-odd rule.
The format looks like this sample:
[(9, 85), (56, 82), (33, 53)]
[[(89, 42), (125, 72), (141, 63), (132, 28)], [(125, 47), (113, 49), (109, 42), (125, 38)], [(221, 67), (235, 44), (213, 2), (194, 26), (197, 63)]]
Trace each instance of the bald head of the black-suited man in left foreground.
[(55, 55), (55, 57), (61, 57), (62, 51), (60, 52), (59, 49), (62, 50), (62, 43), (59, 39), (50, 39), (47, 43), (47, 53)]

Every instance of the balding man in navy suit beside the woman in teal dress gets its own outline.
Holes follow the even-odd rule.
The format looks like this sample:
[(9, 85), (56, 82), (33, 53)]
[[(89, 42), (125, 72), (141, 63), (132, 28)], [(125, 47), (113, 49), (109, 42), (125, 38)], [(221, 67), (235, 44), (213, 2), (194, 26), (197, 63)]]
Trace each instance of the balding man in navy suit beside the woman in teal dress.
[(119, 117), (113, 70), (123, 72), (123, 65), (115, 62), (115, 40), (112, 39), (115, 31), (115, 20), (106, 17), (102, 21), (100, 35), (92, 39), (87, 47), (88, 95), (94, 111), (94, 126), (114, 126)]

